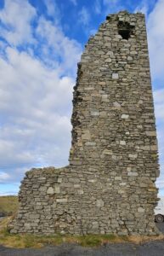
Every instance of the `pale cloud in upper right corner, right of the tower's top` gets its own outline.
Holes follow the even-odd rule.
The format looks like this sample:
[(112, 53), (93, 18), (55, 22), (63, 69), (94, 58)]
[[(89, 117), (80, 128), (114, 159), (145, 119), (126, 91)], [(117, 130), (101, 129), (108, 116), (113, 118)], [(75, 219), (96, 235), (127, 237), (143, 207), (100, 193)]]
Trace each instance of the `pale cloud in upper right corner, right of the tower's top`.
[(150, 67), (153, 79), (164, 81), (164, 0), (159, 0), (147, 20)]

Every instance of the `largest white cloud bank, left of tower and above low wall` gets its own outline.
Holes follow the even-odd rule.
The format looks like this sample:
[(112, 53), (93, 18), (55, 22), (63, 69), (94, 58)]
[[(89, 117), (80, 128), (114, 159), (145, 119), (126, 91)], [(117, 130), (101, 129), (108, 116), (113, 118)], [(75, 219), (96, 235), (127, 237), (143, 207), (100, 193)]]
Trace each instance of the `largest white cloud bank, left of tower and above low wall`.
[(7, 49), (0, 61), (0, 162), (3, 166), (62, 166), (71, 143), (71, 97), (74, 80), (59, 78), (25, 52)]

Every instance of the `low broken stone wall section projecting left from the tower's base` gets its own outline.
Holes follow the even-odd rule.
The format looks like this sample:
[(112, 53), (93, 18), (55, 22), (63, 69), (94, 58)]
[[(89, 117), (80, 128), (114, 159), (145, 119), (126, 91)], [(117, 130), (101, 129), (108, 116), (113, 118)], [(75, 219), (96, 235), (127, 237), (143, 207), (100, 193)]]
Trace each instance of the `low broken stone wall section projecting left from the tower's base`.
[(74, 186), (69, 173), (68, 167), (32, 169), (25, 173), (19, 212), (10, 224), (11, 233), (54, 234), (64, 232), (66, 226), (71, 228), (75, 219), (68, 195), (74, 194)]

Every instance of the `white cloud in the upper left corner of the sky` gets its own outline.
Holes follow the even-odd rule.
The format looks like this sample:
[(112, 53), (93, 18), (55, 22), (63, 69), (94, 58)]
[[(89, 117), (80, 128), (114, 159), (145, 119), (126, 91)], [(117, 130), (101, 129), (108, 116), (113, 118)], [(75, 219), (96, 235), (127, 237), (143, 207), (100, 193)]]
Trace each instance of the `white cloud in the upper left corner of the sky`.
[(0, 20), (5, 25), (1, 28), (1, 37), (12, 45), (34, 43), (31, 21), (37, 15), (36, 10), (26, 0), (5, 0), (4, 3), (0, 11)]

